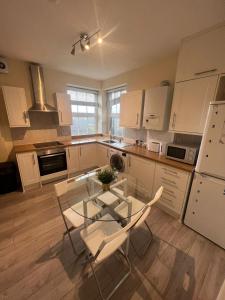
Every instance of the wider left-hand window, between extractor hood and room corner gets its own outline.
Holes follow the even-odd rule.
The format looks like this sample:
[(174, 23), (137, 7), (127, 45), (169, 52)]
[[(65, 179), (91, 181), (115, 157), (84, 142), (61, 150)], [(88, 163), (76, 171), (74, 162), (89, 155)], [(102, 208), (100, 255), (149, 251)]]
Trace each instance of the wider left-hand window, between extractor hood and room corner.
[(94, 134), (98, 124), (98, 91), (69, 86), (73, 125), (72, 135)]

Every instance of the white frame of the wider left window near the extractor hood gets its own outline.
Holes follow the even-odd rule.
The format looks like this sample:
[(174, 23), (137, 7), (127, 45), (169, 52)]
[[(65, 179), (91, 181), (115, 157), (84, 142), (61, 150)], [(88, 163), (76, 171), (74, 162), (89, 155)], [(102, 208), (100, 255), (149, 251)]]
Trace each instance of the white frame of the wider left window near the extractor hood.
[[(92, 88), (86, 88), (86, 87), (79, 87), (79, 86), (72, 86), (72, 85), (67, 85), (66, 87), (66, 93), (70, 95), (69, 91), (74, 91), (74, 92), (85, 92), (85, 93), (90, 93), (95, 95), (95, 101), (80, 101), (80, 100), (73, 100), (72, 97), (70, 96), (70, 101), (71, 101), (71, 112), (72, 112), (72, 120), (73, 118), (76, 117), (86, 117), (86, 118), (95, 118), (95, 132), (86, 132), (86, 133), (80, 133), (79, 128), (78, 128), (78, 133), (74, 133), (72, 131), (72, 124), (70, 126), (71, 128), (71, 136), (76, 137), (76, 136), (89, 136), (89, 135), (95, 135), (98, 133), (98, 108), (99, 108), (99, 90), (97, 89), (92, 89)], [(85, 106), (85, 107), (94, 107), (95, 112), (94, 113), (88, 113), (88, 112), (74, 112), (72, 110), (72, 105), (79, 105), (79, 106)], [(87, 126), (88, 129), (88, 126)]]

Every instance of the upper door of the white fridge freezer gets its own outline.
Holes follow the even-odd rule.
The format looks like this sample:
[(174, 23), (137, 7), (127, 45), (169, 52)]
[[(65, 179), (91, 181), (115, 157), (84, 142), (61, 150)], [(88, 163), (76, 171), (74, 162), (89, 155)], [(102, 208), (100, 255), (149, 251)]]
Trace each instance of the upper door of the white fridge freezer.
[(225, 179), (224, 101), (209, 107), (196, 171)]

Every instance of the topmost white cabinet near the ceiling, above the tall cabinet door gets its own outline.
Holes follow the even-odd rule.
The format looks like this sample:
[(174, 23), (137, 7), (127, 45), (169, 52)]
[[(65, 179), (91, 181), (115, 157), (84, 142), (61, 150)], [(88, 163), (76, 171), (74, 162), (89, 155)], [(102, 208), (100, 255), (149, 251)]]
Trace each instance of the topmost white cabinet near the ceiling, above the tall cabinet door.
[(176, 82), (225, 71), (225, 25), (184, 39), (179, 52)]

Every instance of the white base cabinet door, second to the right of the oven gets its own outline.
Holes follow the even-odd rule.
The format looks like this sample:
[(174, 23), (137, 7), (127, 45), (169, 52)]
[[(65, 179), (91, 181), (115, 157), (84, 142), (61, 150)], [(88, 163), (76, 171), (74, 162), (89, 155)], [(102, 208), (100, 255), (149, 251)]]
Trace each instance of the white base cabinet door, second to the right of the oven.
[(85, 144), (79, 146), (80, 170), (97, 166), (96, 144)]

